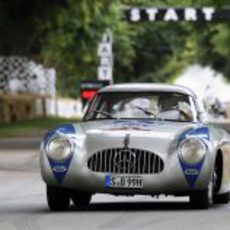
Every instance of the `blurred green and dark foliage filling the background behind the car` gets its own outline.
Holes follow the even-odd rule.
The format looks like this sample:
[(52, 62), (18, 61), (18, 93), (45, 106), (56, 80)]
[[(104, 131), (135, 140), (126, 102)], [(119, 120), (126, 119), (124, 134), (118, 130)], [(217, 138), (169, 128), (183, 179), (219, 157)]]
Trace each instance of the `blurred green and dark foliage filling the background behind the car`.
[[(125, 6), (229, 7), (227, 0), (1, 0), (0, 55), (28, 56), (58, 73), (58, 92), (78, 96), (96, 79), (97, 44), (114, 34), (115, 82), (166, 82), (189, 64), (211, 65), (230, 79), (229, 22), (131, 25)], [(68, 90), (67, 90), (68, 89)]]

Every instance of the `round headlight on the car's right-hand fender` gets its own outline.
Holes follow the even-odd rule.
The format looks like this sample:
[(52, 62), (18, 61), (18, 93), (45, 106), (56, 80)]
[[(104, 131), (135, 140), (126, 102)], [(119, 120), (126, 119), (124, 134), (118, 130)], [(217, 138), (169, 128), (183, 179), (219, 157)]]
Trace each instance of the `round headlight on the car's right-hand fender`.
[(206, 153), (206, 147), (203, 142), (198, 139), (188, 139), (182, 143), (180, 148), (180, 156), (182, 161), (188, 164), (196, 164), (200, 162)]

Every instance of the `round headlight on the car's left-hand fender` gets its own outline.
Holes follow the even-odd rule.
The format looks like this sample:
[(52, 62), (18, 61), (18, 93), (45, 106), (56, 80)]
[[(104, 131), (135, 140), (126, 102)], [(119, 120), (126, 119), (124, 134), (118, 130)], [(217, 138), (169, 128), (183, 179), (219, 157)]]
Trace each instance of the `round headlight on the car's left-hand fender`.
[(65, 137), (55, 137), (47, 144), (46, 152), (51, 159), (62, 161), (71, 154), (72, 144)]

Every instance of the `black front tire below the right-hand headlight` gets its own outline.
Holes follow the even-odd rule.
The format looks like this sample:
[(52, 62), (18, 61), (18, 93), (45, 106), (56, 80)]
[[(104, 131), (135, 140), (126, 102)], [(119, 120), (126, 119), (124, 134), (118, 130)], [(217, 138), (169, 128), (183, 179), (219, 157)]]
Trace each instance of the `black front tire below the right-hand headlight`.
[(202, 191), (193, 191), (190, 194), (190, 204), (194, 209), (207, 209), (210, 206), (208, 189)]

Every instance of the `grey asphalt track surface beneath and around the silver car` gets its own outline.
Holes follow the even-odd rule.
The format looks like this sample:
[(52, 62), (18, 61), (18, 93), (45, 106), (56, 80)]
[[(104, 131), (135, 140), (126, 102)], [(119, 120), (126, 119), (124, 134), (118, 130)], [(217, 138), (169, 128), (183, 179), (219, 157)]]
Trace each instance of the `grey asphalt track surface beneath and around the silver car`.
[(230, 229), (230, 204), (196, 211), (188, 198), (95, 195), (87, 209), (50, 212), (38, 143), (34, 137), (0, 141), (0, 230)]

